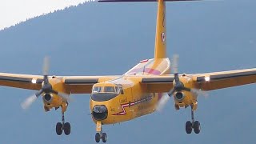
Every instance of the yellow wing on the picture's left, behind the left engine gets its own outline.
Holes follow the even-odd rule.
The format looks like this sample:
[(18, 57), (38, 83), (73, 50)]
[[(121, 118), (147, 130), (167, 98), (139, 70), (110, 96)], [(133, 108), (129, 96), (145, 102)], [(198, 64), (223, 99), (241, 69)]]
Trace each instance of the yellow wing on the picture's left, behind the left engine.
[[(70, 94), (90, 94), (92, 86), (119, 76), (60, 76), (66, 92)], [(50, 77), (49, 77), (50, 78)], [(0, 73), (0, 86), (16, 87), (27, 90), (42, 89), (43, 76), (31, 74)]]

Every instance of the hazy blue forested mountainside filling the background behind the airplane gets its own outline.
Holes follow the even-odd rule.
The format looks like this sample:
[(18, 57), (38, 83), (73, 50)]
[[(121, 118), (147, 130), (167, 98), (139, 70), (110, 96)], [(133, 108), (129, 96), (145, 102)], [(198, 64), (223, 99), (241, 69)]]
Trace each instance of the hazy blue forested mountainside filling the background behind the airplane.
[[(256, 67), (255, 7), (255, 0), (168, 2), (167, 52), (180, 55), (179, 72)], [(154, 57), (156, 10), (156, 2), (90, 2), (0, 30), (0, 72), (42, 74), (42, 59), (49, 55), (53, 75), (124, 74)], [(22, 110), (21, 102), (34, 93), (0, 86), (1, 144), (95, 143), (89, 94), (72, 94), (66, 111), (71, 134), (58, 136), (60, 109), (46, 113), (38, 98)], [(252, 84), (199, 97), (195, 118), (201, 122), (200, 134), (186, 134), (190, 109), (175, 110), (173, 98), (161, 113), (103, 130), (108, 144), (255, 143), (255, 94)]]

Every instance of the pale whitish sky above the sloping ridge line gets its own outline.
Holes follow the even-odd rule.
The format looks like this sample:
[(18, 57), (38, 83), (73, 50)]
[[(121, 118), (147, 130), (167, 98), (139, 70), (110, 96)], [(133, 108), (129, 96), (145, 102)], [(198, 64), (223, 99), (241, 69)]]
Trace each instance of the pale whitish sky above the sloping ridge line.
[(34, 18), (86, 1), (88, 0), (0, 0), (0, 30), (26, 21), (26, 18)]

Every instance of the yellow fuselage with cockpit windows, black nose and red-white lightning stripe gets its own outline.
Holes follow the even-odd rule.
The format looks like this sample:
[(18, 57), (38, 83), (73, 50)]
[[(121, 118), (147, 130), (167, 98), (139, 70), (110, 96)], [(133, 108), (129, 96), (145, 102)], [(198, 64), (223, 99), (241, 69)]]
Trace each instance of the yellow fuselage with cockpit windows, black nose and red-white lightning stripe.
[[(169, 73), (169, 58), (150, 59), (138, 63), (120, 78), (95, 84), (90, 98), (90, 110), (94, 122), (114, 124), (153, 113), (162, 94), (148, 93), (148, 87), (140, 83), (139, 76)], [(95, 93), (94, 89), (98, 90), (98, 87), (101, 91)], [(110, 87), (116, 90), (112, 92), (104, 90)]]

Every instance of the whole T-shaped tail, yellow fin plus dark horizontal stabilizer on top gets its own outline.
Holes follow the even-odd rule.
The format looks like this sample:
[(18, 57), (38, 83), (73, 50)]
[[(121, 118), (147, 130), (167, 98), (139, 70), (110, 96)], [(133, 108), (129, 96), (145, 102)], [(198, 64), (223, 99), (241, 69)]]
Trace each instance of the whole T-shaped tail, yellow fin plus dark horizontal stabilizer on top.
[(198, 0), (99, 0), (98, 2), (158, 2), (154, 58), (166, 58), (166, 2), (179, 1)]

